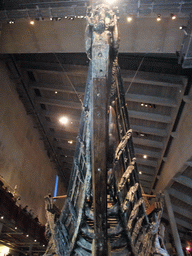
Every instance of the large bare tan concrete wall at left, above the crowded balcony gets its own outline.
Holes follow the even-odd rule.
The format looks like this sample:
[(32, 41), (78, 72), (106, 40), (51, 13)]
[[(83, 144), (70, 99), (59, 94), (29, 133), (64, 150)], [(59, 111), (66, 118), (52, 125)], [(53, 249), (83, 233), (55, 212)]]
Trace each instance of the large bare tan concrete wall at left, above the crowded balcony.
[[(0, 63), (0, 175), (12, 188), (17, 185), (20, 204), (28, 205), (45, 223), (44, 196), (54, 193), (56, 171), (3, 63)], [(65, 193), (60, 182), (58, 194)]]

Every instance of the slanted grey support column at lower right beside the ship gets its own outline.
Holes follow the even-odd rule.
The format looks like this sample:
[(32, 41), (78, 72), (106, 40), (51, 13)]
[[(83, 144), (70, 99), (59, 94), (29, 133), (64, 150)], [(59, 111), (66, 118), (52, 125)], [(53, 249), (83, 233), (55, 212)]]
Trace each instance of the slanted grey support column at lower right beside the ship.
[(164, 194), (165, 194), (165, 202), (167, 206), (169, 221), (171, 224), (171, 230), (172, 230), (172, 234), (173, 234), (173, 238), (174, 238), (174, 242), (177, 250), (177, 255), (184, 256), (169, 193), (165, 191)]

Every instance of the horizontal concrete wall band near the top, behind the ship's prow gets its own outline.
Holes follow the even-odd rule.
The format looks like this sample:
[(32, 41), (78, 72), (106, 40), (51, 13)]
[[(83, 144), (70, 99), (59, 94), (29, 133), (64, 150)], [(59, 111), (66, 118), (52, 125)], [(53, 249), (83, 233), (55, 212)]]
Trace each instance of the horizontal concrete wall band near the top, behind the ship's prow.
[[(120, 17), (119, 52), (175, 53), (184, 36), (179, 26), (186, 24), (187, 18), (134, 18), (128, 23)], [(85, 27), (85, 19), (3, 24), (0, 53), (85, 52)]]

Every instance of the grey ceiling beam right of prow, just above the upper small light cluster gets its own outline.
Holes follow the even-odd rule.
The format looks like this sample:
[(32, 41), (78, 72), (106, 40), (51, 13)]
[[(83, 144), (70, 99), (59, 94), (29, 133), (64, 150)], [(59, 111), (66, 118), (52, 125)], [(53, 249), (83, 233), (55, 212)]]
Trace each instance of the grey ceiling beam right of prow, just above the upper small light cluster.
[(155, 105), (173, 107), (173, 108), (175, 108), (177, 106), (177, 102), (173, 99), (155, 97), (155, 96), (149, 96), (149, 95), (142, 95), (142, 94), (127, 93), (125, 96), (125, 99), (127, 101), (155, 104)]

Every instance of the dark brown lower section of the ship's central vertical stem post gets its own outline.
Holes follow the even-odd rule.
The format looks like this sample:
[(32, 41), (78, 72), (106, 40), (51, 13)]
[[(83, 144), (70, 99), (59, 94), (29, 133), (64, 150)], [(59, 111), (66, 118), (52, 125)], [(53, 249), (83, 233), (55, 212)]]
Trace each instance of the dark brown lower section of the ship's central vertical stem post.
[(106, 78), (93, 79), (92, 173), (94, 255), (107, 256), (107, 86)]

